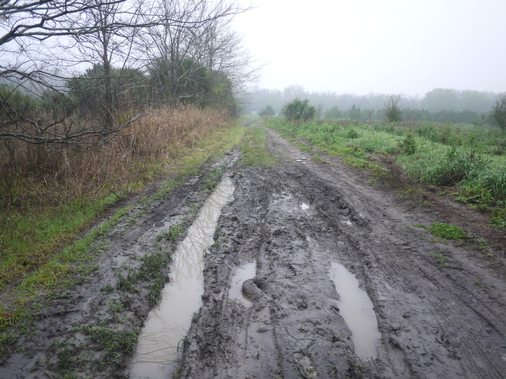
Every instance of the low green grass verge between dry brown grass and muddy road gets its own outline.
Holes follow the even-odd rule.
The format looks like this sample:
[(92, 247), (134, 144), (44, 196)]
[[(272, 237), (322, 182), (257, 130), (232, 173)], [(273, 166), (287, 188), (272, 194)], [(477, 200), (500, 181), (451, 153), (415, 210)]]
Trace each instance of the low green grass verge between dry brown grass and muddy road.
[[(165, 172), (170, 173), (172, 178), (162, 183), (152, 196), (140, 199), (141, 210), (136, 217), (140, 217), (153, 201), (163, 198), (172, 189), (183, 184), (188, 177), (198, 175), (199, 167), (210, 157), (218, 159), (223, 155), (223, 150), (231, 150), (239, 142), (243, 132), (244, 128), (239, 125), (215, 127), (194, 141), (191, 146), (180, 147), (178, 155), (171, 158), (170, 166), (167, 162), (156, 163), (165, 167)], [(208, 178), (207, 181), (210, 185), (213, 178)], [(140, 189), (143, 183), (136, 188)], [(5, 271), (0, 271), (1, 283), (2, 287), (5, 287), (7, 283), (10, 283), (12, 287), (15, 282), (15, 288), (11, 288), (9, 299), (2, 300), (0, 304), (0, 328), (15, 324), (24, 316), (29, 316), (34, 309), (41, 306), (41, 304), (33, 304), (33, 299), (39, 294), (46, 294), (46, 298), (50, 299), (55, 295), (56, 285), (69, 280), (71, 274), (78, 270), (85, 274), (93, 271), (94, 266), (90, 262), (98, 254), (101, 239), (118, 221), (125, 218), (132, 206), (118, 210), (112, 218), (94, 228), (85, 237), (71, 244), (68, 242), (75, 238), (90, 221), (96, 219), (107, 204), (115, 201), (119, 196), (104, 194), (90, 201), (87, 206), (93, 209), (93, 212), (73, 215), (75, 222), (72, 223), (66, 223), (69, 216), (63, 209), (67, 208), (62, 207), (58, 212), (41, 208), (37, 210), (38, 213), (34, 211), (31, 216), (25, 215), (25, 218), (31, 217), (32, 220), (46, 218), (42, 224), (43, 227), (37, 228), (38, 224), (32, 222), (24, 235), (12, 231), (9, 233), (7, 230), (9, 239), (6, 239), (6, 234), (4, 234), (3, 254), (12, 258), (3, 260), (1, 263), (5, 269)], [(128, 221), (135, 222), (135, 217)], [(15, 225), (16, 230), (19, 230), (19, 223)], [(5, 241), (9, 242), (5, 243)], [(44, 251), (44, 254), (40, 251)], [(36, 263), (33, 260), (34, 256), (38, 256)], [(28, 262), (28, 264), (23, 264), (23, 262)], [(156, 298), (156, 294), (153, 294), (153, 298)]]

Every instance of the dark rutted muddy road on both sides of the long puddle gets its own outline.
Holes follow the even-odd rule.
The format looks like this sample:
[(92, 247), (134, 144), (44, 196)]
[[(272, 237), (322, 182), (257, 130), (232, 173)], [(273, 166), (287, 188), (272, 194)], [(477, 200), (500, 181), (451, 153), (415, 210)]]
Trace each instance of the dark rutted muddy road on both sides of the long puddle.
[[(235, 162), (237, 153), (227, 161), (224, 176), (235, 189), (202, 261), (202, 300), (175, 376), (506, 377), (501, 268), (486, 268), (484, 255), (469, 246), (431, 240), (424, 225), (444, 221), (440, 211), (415, 211), (393, 191), (367, 184), (366, 174), (339, 159), (314, 161), (276, 132), (265, 132), (278, 165), (246, 167), (240, 159)], [(137, 225), (110, 236), (95, 278), (69, 293), (70, 300), (59, 300), (60, 308), (56, 303), (48, 308), (36, 326), (49, 330), (39, 331), (45, 350), (33, 344), (31, 361), (26, 354), (11, 354), (0, 367), (11, 375), (4, 377), (57, 372), (33, 363), (37, 358), (60, 362), (61, 351), (54, 358), (49, 350), (57, 337), (76, 352), (85, 346), (94, 352), (90, 357), (103, 356), (90, 333), (75, 331), (78, 325), (109, 317), (111, 328), (141, 326), (150, 305), (139, 299), (148, 286), (135, 296), (129, 293), (129, 310), (116, 309), (115, 317), (110, 317), (110, 301), (124, 305), (124, 297), (104, 298), (98, 288), (115, 287), (114, 272), (132, 262), (139, 267), (139, 256), (156, 251), (156, 235), (179, 222), (197, 187), (197, 180), (187, 183), (155, 203)], [(174, 251), (178, 241), (166, 247)], [(499, 262), (494, 267), (501, 266), (503, 258), (494, 259)], [(165, 313), (170, 312), (169, 307)], [(100, 368), (89, 358), (75, 375), (128, 376), (131, 361), (124, 352), (121, 357), (114, 369)]]

